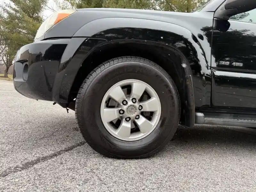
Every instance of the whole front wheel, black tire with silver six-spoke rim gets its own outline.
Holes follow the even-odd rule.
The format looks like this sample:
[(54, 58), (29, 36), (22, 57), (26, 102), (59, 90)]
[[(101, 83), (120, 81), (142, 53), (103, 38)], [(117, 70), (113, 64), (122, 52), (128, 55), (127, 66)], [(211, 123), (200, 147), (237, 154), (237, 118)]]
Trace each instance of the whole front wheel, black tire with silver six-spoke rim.
[(160, 66), (139, 57), (104, 62), (86, 77), (76, 98), (81, 133), (104, 156), (153, 156), (172, 139), (179, 119), (173, 80)]

